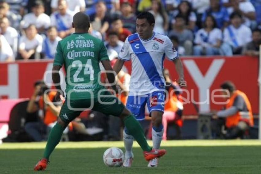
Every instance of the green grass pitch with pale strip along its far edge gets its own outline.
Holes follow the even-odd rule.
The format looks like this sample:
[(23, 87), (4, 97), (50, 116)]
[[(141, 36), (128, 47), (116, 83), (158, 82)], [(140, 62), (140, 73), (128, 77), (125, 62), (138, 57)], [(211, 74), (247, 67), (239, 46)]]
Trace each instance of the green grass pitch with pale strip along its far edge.
[[(149, 141), (151, 144), (152, 142)], [(0, 173), (42, 173), (33, 167), (43, 154), (45, 142), (3, 143), (0, 145)], [(167, 154), (157, 168), (148, 168), (142, 150), (134, 143), (131, 168), (109, 168), (103, 152), (123, 142), (62, 142), (51, 155), (43, 173), (261, 173), (259, 140), (180, 140), (162, 142)]]

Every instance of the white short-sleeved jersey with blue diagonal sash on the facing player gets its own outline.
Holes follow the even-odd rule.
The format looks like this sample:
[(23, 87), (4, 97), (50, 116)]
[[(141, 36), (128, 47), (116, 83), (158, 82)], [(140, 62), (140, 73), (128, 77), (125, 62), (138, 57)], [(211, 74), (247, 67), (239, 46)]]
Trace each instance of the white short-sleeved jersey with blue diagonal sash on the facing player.
[(165, 56), (170, 61), (178, 57), (167, 36), (153, 33), (153, 36), (146, 41), (137, 33), (127, 37), (119, 53), (119, 59), (131, 60), (132, 63), (130, 96), (145, 95), (165, 89), (162, 74)]

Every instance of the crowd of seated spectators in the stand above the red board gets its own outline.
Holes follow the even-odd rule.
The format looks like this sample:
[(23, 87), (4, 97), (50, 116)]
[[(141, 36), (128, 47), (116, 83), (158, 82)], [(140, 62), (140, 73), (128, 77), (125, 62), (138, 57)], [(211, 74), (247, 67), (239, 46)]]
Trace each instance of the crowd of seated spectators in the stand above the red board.
[(180, 55), (258, 54), (260, 0), (0, 0), (0, 61), (53, 59), (78, 11), (90, 16), (89, 33), (119, 53), (144, 10)]

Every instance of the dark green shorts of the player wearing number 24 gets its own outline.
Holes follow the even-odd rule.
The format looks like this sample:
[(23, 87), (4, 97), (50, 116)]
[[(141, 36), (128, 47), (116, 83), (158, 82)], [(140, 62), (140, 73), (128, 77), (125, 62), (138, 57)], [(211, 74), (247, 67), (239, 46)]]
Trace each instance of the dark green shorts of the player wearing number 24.
[(110, 92), (105, 91), (99, 97), (91, 99), (65, 99), (59, 117), (65, 123), (69, 123), (80, 115), (84, 110), (94, 110), (105, 115), (119, 117), (125, 106)]

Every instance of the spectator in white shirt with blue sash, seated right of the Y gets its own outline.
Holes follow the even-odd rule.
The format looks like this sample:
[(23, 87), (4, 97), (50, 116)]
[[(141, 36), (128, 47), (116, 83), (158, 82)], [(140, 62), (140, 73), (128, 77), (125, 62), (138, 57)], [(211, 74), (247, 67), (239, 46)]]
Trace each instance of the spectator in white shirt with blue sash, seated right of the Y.
[(224, 30), (224, 44), (230, 45), (230, 49), (224, 51), (227, 55), (241, 54), (242, 48), (252, 41), (252, 33), (249, 27), (242, 24), (240, 13), (233, 12), (230, 15), (231, 25)]

